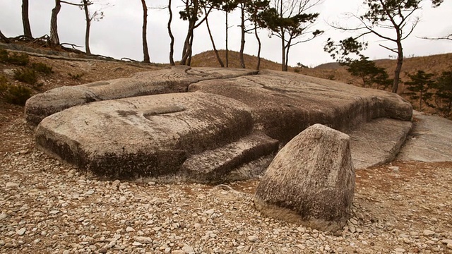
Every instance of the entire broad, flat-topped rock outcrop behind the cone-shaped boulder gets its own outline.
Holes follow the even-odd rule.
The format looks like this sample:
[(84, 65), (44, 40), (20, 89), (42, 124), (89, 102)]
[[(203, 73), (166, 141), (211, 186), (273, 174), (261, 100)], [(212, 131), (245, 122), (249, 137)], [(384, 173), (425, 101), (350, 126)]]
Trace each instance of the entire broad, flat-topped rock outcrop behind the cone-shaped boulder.
[(186, 66), (59, 87), (25, 106), (28, 123), (39, 123), (37, 146), (81, 170), (201, 183), (261, 174), (315, 123), (350, 134), (359, 168), (387, 162), (411, 116), (411, 104), (391, 92), (295, 73)]

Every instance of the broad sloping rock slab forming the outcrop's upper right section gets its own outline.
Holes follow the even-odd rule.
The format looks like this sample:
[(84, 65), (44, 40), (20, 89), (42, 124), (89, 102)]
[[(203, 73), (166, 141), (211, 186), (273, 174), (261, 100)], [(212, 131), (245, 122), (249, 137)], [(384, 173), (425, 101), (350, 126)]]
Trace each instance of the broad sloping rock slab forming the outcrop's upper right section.
[(296, 73), (261, 71), (190, 85), (189, 92), (223, 95), (248, 105), (256, 128), (287, 143), (314, 123), (348, 132), (377, 118), (410, 121), (411, 104), (391, 92), (364, 89)]

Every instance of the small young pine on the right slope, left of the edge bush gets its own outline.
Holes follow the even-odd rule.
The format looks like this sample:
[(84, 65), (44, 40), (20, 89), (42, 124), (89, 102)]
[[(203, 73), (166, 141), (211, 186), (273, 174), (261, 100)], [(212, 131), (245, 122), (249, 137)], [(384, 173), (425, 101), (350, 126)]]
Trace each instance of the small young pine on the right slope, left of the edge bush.
[(410, 92), (405, 92), (406, 95), (410, 96), (410, 99), (419, 99), (419, 110), (422, 111), (422, 102), (429, 107), (434, 107), (429, 101), (433, 97), (433, 92), (429, 92), (434, 84), (432, 80), (432, 73), (425, 73), (424, 71), (417, 71), (416, 74), (408, 74), (410, 81), (405, 82), (408, 85), (407, 89)]

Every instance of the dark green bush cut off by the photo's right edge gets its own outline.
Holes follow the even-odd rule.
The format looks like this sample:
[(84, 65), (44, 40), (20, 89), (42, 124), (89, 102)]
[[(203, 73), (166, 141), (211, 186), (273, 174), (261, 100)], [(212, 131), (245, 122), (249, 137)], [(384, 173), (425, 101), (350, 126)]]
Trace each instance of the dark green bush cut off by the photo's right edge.
[(452, 116), (452, 71), (444, 71), (436, 78), (436, 109), (444, 116)]

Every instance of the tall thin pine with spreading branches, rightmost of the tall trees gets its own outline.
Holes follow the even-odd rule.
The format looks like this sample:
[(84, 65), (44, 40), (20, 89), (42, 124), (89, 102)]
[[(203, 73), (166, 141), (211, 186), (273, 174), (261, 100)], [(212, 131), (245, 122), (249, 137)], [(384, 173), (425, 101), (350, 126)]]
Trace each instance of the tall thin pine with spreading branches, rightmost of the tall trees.
[[(359, 53), (361, 49), (365, 49), (367, 43), (357, 42), (357, 39), (364, 37), (364, 35), (376, 35), (383, 40), (393, 42), (395, 47), (388, 47), (380, 44), (381, 47), (388, 49), (397, 54), (397, 65), (394, 70), (392, 92), (398, 91), (400, 81), (400, 71), (403, 65), (403, 45), (402, 42), (408, 38), (413, 30), (415, 30), (418, 17), (413, 17), (413, 14), (419, 10), (422, 0), (365, 0), (367, 5), (366, 13), (357, 16), (350, 14), (352, 18), (356, 18), (361, 25), (354, 28), (347, 28), (338, 25), (333, 25), (334, 28), (349, 31), (362, 31), (355, 37), (347, 38), (335, 44), (333, 40), (328, 39), (325, 50), (331, 55), (345, 56), (353, 53)], [(441, 4), (440, 1), (434, 0), (434, 4)], [(393, 35), (388, 35), (387, 31), (393, 32)]]

